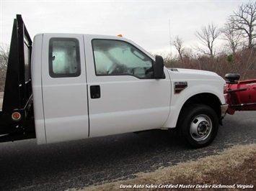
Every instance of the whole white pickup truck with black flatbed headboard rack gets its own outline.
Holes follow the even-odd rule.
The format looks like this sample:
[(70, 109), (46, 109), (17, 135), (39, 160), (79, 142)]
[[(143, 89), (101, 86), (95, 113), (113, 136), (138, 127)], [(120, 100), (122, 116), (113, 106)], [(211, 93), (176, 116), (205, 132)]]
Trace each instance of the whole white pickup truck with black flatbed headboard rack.
[(37, 144), (177, 128), (194, 148), (211, 144), (228, 108), (225, 81), (168, 69), (129, 39), (37, 34), (14, 19), (0, 141)]

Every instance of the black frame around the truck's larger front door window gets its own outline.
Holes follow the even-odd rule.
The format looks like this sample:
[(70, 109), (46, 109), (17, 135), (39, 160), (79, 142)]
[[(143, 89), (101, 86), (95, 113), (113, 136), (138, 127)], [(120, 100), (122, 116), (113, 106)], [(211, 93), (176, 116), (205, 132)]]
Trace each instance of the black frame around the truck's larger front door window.
[[(94, 41), (94, 40), (111, 40), (111, 41), (124, 42), (125, 44), (130, 45), (131, 47), (133, 47), (134, 49), (136, 49), (138, 52), (143, 53), (143, 55), (145, 55), (145, 57), (148, 57), (149, 60), (151, 60), (151, 68), (152, 68), (153, 75), (151, 75), (151, 77), (148, 77), (148, 78), (140, 78), (139, 76), (136, 76), (136, 75), (133, 75), (133, 74), (130, 74), (130, 73), (120, 73), (120, 74), (97, 74), (96, 58), (95, 58), (94, 46), (93, 46), (93, 41)], [(127, 42), (127, 41), (121, 40), (121, 39), (92, 39), (91, 45), (92, 45), (92, 54), (93, 54), (93, 59), (94, 59), (94, 73), (95, 73), (96, 76), (133, 76), (133, 77), (138, 78), (138, 79), (140, 79), (140, 80), (151, 80), (151, 79), (154, 79), (154, 60), (152, 60), (151, 57), (149, 57), (148, 55), (145, 54), (145, 52), (141, 51), (140, 49), (138, 49), (138, 47), (132, 45), (130, 42)]]

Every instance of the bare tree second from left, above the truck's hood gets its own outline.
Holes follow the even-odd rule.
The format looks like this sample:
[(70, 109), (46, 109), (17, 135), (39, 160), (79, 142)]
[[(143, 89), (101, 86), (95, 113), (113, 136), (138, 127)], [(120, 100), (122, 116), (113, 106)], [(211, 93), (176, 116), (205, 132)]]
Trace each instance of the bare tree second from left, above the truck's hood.
[(211, 57), (214, 57), (216, 54), (216, 51), (214, 49), (214, 42), (221, 34), (221, 30), (214, 25), (213, 23), (208, 24), (208, 26), (204, 26), (201, 28), (201, 31), (195, 32), (195, 36), (200, 39), (201, 44), (207, 48), (208, 51), (205, 49), (196, 46), (195, 50), (198, 50), (199, 52), (202, 52), (203, 54), (210, 55)]

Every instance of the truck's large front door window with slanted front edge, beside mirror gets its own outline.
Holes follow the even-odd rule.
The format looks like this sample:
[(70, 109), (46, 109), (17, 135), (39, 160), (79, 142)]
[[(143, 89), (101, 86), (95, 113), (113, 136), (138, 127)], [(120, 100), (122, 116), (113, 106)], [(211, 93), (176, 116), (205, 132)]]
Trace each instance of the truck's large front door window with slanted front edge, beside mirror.
[(133, 75), (151, 78), (153, 61), (133, 45), (120, 40), (92, 40), (96, 75)]

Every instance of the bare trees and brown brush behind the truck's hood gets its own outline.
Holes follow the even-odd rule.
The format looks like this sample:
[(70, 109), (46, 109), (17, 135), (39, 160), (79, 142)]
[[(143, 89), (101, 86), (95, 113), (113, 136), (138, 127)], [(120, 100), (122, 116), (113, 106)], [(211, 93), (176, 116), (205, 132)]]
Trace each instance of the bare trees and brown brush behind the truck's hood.
[[(195, 31), (199, 45), (184, 46), (184, 39), (177, 35), (171, 45), (177, 57), (165, 55), (167, 67), (190, 67), (211, 70), (223, 76), (240, 73), (241, 79), (256, 78), (256, 1), (248, 1), (233, 11), (224, 27), (211, 22)], [(217, 41), (226, 42), (219, 47)]]

